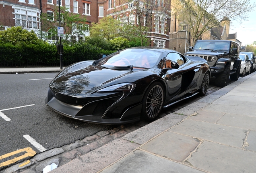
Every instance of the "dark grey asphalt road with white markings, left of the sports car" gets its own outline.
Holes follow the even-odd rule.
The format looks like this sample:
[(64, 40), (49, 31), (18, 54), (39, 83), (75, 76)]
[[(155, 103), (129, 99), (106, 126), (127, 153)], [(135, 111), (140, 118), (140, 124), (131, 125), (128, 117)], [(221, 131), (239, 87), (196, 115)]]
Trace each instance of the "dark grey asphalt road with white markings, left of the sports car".
[(26, 147), (40, 153), (25, 139), (28, 135), (49, 150), (114, 127), (70, 119), (47, 107), (44, 100), (56, 74), (0, 74), (0, 113), (10, 119), (0, 117), (0, 156)]

